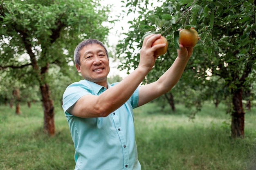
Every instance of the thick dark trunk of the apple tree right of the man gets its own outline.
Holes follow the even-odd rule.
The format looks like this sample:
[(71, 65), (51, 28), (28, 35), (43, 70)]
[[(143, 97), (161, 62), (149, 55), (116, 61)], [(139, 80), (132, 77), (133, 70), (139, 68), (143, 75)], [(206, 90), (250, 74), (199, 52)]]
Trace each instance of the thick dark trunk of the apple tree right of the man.
[(242, 88), (233, 91), (233, 112), (231, 121), (231, 137), (244, 138), (245, 136), (245, 111), (242, 104)]

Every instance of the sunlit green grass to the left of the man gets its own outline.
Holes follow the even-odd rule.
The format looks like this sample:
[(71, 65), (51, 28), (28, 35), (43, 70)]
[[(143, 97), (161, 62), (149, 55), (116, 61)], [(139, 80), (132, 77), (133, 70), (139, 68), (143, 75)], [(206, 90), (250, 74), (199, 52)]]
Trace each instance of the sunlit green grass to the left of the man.
[(56, 135), (43, 132), (40, 103), (31, 108), (0, 106), (0, 170), (72, 170), (74, 145), (61, 108), (55, 111)]

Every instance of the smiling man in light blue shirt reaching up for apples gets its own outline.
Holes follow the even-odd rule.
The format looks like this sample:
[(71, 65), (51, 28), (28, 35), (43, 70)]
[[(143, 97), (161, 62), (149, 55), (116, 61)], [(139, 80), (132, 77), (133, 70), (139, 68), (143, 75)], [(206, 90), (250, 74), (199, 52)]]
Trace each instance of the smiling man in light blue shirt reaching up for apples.
[(133, 108), (168, 92), (180, 79), (193, 48), (180, 45), (171, 67), (153, 83), (139, 86), (155, 64), (152, 46), (161, 37), (144, 38), (139, 65), (119, 83), (109, 84), (108, 51), (95, 39), (81, 42), (74, 61), (83, 80), (67, 87), (63, 110), (75, 146), (75, 170), (140, 170)]

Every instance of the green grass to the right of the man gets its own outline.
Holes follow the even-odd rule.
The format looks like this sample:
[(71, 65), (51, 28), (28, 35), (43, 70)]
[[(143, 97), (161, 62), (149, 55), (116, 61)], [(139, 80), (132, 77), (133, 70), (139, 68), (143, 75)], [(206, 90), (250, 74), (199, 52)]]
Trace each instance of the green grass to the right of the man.
[[(230, 138), (225, 108), (207, 104), (193, 120), (190, 111), (176, 112), (149, 104), (135, 119), (139, 160), (144, 170), (249, 170), (256, 159), (256, 110), (247, 112), (245, 139)], [(255, 169), (252, 169), (255, 170)]]

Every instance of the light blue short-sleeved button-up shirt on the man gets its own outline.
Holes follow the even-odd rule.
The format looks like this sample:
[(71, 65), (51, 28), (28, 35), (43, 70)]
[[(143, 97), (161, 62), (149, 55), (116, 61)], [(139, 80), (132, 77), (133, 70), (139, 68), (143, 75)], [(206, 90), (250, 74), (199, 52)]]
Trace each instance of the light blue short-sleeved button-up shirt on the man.
[[(109, 84), (112, 88), (115, 84)], [(133, 108), (137, 107), (139, 87), (130, 99), (107, 117), (80, 118), (67, 112), (83, 95), (100, 95), (106, 88), (81, 80), (67, 87), (63, 110), (75, 147), (75, 170), (140, 170)]]

